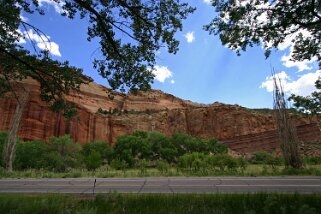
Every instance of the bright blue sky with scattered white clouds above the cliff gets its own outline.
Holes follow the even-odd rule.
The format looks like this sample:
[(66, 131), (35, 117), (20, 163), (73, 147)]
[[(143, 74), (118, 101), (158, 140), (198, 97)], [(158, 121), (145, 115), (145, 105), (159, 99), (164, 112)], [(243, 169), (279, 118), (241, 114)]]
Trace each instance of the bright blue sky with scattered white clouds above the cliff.
[[(95, 82), (108, 87), (107, 81), (92, 67), (93, 56), (99, 53), (96, 51), (99, 44), (86, 39), (88, 20), (62, 17), (61, 7), (52, 0), (39, 2), (45, 16), (22, 14), (22, 17), (50, 37), (51, 43), (44, 45), (32, 31), (29, 31), (30, 38), (22, 39), (21, 43), (31, 48), (28, 41), (31, 39), (40, 49), (49, 47), (54, 59), (68, 60), (71, 65), (82, 68)], [(261, 46), (249, 48), (237, 56), (224, 47), (217, 36), (203, 30), (215, 15), (209, 0), (188, 2), (197, 10), (183, 21), (183, 31), (176, 34), (180, 41), (178, 53), (168, 54), (165, 49), (158, 53), (153, 89), (200, 103), (217, 101), (249, 108), (271, 108), (270, 75), (274, 68), (287, 93), (308, 95), (314, 90), (314, 82), (320, 75), (317, 63), (290, 61), (290, 38), (267, 60)], [(24, 33), (23, 29), (20, 30)]]

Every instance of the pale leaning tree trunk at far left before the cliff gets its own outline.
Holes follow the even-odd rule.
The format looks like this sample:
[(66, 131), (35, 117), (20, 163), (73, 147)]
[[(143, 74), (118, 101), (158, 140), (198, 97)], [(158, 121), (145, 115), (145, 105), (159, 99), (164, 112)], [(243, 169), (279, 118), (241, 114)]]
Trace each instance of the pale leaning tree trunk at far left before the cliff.
[(7, 142), (3, 150), (3, 163), (7, 171), (12, 171), (12, 163), (16, 151), (17, 133), (20, 126), (23, 110), (29, 97), (29, 90), (24, 91), (17, 102), (16, 111), (13, 117), (12, 127), (9, 131)]

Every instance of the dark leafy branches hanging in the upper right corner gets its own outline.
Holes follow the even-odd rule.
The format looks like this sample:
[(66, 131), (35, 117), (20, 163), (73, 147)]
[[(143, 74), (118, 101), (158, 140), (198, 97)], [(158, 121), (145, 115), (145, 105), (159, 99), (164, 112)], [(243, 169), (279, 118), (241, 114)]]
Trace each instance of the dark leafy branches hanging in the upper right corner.
[(290, 39), (293, 60), (321, 61), (319, 0), (212, 0), (212, 5), (217, 15), (204, 28), (238, 54), (263, 43), (268, 57)]

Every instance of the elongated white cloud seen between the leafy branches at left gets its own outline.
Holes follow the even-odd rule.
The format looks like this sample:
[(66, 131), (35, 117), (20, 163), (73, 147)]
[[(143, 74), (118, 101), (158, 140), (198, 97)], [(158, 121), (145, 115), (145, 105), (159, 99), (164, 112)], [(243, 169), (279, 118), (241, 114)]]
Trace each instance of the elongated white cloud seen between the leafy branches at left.
[(48, 50), (52, 55), (61, 57), (59, 45), (51, 42), (49, 36), (37, 34), (33, 30), (25, 31), (23, 34), (25, 39), (35, 42), (39, 49)]

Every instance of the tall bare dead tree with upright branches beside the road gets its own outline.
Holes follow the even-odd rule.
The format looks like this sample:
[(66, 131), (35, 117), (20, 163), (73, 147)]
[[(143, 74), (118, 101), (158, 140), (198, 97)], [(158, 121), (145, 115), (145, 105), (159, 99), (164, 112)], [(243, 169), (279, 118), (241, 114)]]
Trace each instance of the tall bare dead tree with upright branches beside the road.
[(281, 80), (275, 75), (275, 73), (273, 73), (273, 81), (273, 109), (275, 111), (276, 125), (279, 133), (279, 139), (281, 141), (281, 150), (284, 156), (285, 166), (302, 168), (302, 160), (299, 154), (298, 138), (295, 126), (293, 125), (289, 115)]

